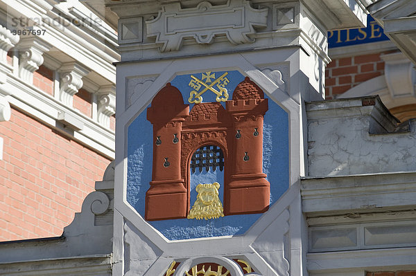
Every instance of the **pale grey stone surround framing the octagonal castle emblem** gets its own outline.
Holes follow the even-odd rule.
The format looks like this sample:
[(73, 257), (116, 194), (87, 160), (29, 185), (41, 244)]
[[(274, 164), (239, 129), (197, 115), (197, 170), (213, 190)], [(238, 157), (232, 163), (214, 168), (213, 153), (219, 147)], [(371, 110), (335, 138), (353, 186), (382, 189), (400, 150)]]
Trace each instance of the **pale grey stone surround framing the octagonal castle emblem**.
[[(120, 63), (117, 68), (117, 113), (116, 113), (116, 169), (115, 169), (115, 200), (114, 200), (114, 267), (113, 275), (123, 275), (123, 224), (125, 220), (130, 221), (144, 236), (155, 246), (162, 250), (162, 255), (157, 259), (147, 260), (148, 268), (144, 275), (162, 275), (174, 259), (188, 259), (189, 256), (194, 257), (213, 257), (220, 254), (223, 257), (241, 256), (247, 259), (257, 272), (265, 275), (302, 275), (302, 270), (306, 262), (302, 261), (302, 257), (306, 252), (306, 248), (302, 241), (307, 240), (307, 233), (304, 229), (304, 221), (300, 203), (300, 187), (299, 176), (303, 173), (303, 157), (302, 149), (303, 136), (300, 136), (302, 122), (300, 122), (300, 105), (291, 98), (287, 92), (279, 89), (275, 82), (272, 82), (266, 75), (259, 71), (258, 67), (264, 67), (268, 64), (281, 64), (282, 62), (293, 62), (293, 68), (290, 68), (290, 75), (294, 75), (299, 70), (296, 67), (299, 55), (302, 50), (297, 47), (286, 48), (279, 51), (279, 60), (270, 63), (270, 52), (255, 52), (230, 55), (216, 55), (209, 57), (189, 57), (183, 59), (159, 60), (153, 62), (128, 62)], [(273, 52), (272, 52), (273, 53)], [(276, 53), (275, 53), (276, 54)], [(233, 64), (234, 66), (224, 66), (224, 64)], [(290, 67), (290, 66), (289, 66)], [(178, 71), (180, 68), (180, 72)], [(201, 238), (191, 240), (169, 241), (160, 232), (155, 230), (142, 218), (137, 211), (131, 207), (126, 201), (127, 187), (127, 131), (132, 120), (143, 112), (148, 104), (150, 104), (153, 96), (175, 75), (182, 75), (196, 71), (231, 71), (239, 70), (244, 75), (248, 75), (250, 79), (257, 84), (261, 84), (261, 89), (265, 91), (269, 97), (277, 102), (281, 108), (288, 113), (289, 124), (289, 185), (288, 191), (281, 196), (270, 210), (263, 214), (261, 219), (246, 232), (246, 234), (236, 237), (215, 237)], [(125, 109), (125, 91), (128, 78), (134, 76), (141, 77), (146, 75), (159, 75), (155, 81), (150, 84), (148, 89), (135, 98), (135, 102), (128, 109)], [(299, 86), (294, 85), (294, 89)], [(121, 135), (120, 135), (121, 134)], [(289, 210), (288, 218), (289, 230), (291, 237), (290, 250), (273, 254), (281, 254), (285, 257), (288, 254), (291, 258), (291, 266), (289, 271), (277, 271), (270, 267), (268, 261), (262, 257), (259, 252), (252, 248), (252, 244), (259, 235), (268, 228), (273, 221), (279, 220), (279, 217), (285, 210)], [(283, 217), (282, 217), (283, 218)], [(283, 221), (284, 222), (284, 221)], [(270, 237), (273, 242), (283, 243), (284, 237)], [(180, 250), (178, 251), (178, 244)], [(201, 250), (203, 248), (203, 253)], [(222, 248), (219, 250), (218, 248)], [(260, 252), (263, 253), (263, 252)], [(266, 252), (267, 254), (267, 252)], [(175, 257), (172, 257), (175, 256)], [(270, 260), (269, 260), (270, 263)], [(141, 263), (145, 266), (144, 263)], [(146, 268), (147, 269), (147, 268)], [(146, 271), (146, 270), (144, 270)], [(131, 272), (142, 275), (143, 272)]]

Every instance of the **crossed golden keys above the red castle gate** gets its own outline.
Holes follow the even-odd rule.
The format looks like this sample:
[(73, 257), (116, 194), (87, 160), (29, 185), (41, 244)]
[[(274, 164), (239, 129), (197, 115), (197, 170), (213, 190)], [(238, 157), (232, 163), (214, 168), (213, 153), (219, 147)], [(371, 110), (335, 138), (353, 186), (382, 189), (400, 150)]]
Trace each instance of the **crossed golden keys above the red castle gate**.
[[(205, 91), (207, 90), (211, 90), (212, 92), (216, 93), (216, 101), (217, 102), (225, 102), (226, 100), (228, 100), (228, 91), (227, 89), (225, 89), (225, 85), (227, 85), (229, 83), (229, 80), (227, 79), (227, 77), (225, 77), (228, 74), (228, 72), (223, 73), (223, 75), (221, 75), (220, 77), (218, 77), (218, 79), (214, 80), (214, 82), (212, 82), (211, 84), (206, 84), (205, 82), (202, 82), (202, 80), (199, 80), (198, 77), (195, 77), (193, 75), (191, 75), (191, 82), (189, 82), (189, 86), (193, 87), (193, 90), (191, 91), (191, 93), (189, 93), (189, 99), (188, 102), (190, 103), (194, 103), (194, 104), (199, 104), (200, 102), (202, 102), (202, 94), (205, 93)], [(222, 84), (218, 84), (217, 87), (218, 89), (220, 89), (220, 91), (214, 89), (212, 86), (214, 86), (215, 84), (217, 84), (218, 82), (223, 81)], [(198, 85), (199, 84), (199, 85)], [(205, 86), (205, 89), (203, 89), (202, 91), (198, 92), (201, 84), (203, 86)]]

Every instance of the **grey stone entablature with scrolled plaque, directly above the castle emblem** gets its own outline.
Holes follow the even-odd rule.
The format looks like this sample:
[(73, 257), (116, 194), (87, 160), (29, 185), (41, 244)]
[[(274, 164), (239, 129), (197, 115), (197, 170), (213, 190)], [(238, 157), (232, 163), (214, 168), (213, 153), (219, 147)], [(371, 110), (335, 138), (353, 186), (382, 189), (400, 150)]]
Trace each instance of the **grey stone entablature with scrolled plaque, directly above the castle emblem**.
[[(153, 9), (153, 12), (157, 12), (155, 14), (144, 12), (139, 8), (132, 9), (131, 1), (123, 1), (126, 6), (109, 3), (121, 17), (118, 49), (123, 55), (122, 60), (212, 55), (218, 52), (234, 53), (236, 50), (301, 45), (308, 55), (318, 55), (327, 64), (330, 61), (327, 55), (327, 28), (339, 24), (360, 26), (361, 19), (357, 19), (356, 16), (363, 15), (361, 2), (356, 3), (357, 9), (354, 11), (359, 15), (351, 15), (352, 18), (355, 17), (354, 20), (348, 21), (345, 15), (342, 15), (341, 20), (330, 13), (325, 14), (327, 25), (316, 23), (320, 21), (317, 14), (319, 9), (313, 6), (315, 1), (311, 1), (309, 6), (305, 6), (300, 1), (288, 3), (266, 1), (261, 5), (256, 5), (254, 3), (256, 1), (245, 0), (230, 0), (226, 4), (199, 1), (198, 4), (193, 2), (191, 5), (186, 5), (185, 2), (158, 4), (157, 9), (155, 9), (156, 3), (134, 2), (139, 6), (148, 3), (149, 6), (144, 7), (144, 10)], [(320, 10), (326, 7), (322, 5)], [(352, 13), (345, 3), (332, 1), (331, 6)], [(132, 15), (129, 12), (141, 12), (141, 15)], [(228, 14), (229, 16), (221, 16)], [(244, 20), (235, 20), (234, 15), (238, 18), (244, 15), (241, 17)], [(332, 25), (329, 24), (330, 15), (335, 17)], [(197, 18), (200, 16), (206, 17), (205, 21), (208, 24), (182, 24), (182, 19), (199, 22)], [(162, 26), (165, 26), (166, 30)]]

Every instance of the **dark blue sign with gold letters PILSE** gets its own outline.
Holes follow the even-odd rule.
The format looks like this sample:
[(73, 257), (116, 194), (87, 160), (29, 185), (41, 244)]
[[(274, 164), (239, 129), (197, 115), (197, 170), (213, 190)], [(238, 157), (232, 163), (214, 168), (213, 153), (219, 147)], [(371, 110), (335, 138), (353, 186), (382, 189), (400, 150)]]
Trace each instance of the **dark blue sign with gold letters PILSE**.
[(330, 30), (328, 32), (329, 48), (381, 42), (388, 39), (383, 33), (383, 28), (370, 15), (367, 16), (367, 28)]

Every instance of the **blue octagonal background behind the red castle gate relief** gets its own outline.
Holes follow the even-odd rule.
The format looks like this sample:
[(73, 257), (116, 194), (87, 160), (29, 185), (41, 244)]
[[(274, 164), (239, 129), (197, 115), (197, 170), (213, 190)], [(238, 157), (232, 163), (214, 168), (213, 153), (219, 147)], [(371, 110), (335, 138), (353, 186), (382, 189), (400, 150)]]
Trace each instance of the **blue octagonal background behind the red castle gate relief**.
[[(219, 77), (224, 71), (214, 72)], [(202, 80), (202, 73), (193, 74)], [(225, 86), (232, 99), (232, 91), (244, 80), (239, 71), (228, 71), (229, 84)], [(178, 75), (171, 84), (179, 89), (184, 103), (189, 104), (189, 93), (193, 90), (188, 84), (191, 75)], [(214, 102), (216, 95), (206, 91), (203, 102)], [(265, 98), (268, 98), (265, 93)], [(224, 104), (225, 105), (225, 104)], [(270, 182), (270, 204), (275, 203), (286, 192), (289, 183), (289, 149), (288, 149), (288, 114), (271, 99), (269, 109), (263, 122), (263, 172)], [(150, 106), (149, 106), (150, 107)], [(190, 110), (193, 104), (190, 104)], [(225, 160), (227, 162), (227, 160)], [(128, 174), (127, 201), (144, 217), (146, 191), (152, 180), (153, 163), (153, 125), (146, 120), (146, 109), (128, 127)], [(220, 201), (223, 202), (224, 172), (219, 168), (213, 172), (197, 169), (191, 174), (191, 206), (196, 200), (195, 191), (198, 183), (220, 183)], [(196, 239), (201, 237), (220, 237), (244, 234), (262, 214), (239, 214), (218, 219), (168, 219), (164, 221), (148, 221), (167, 239)]]

